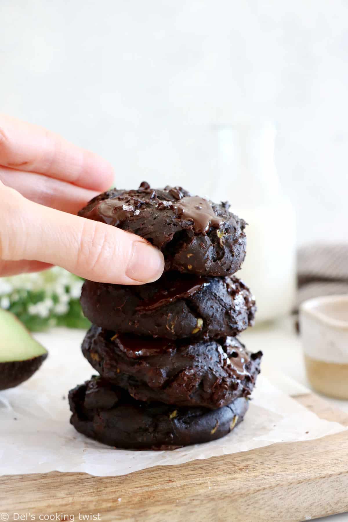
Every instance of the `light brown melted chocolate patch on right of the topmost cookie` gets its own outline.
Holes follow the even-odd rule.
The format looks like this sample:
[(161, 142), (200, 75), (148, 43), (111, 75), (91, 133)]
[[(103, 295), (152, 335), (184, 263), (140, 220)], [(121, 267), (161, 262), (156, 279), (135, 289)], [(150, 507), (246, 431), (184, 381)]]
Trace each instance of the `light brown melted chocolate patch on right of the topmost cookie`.
[(179, 216), (193, 221), (195, 232), (205, 234), (209, 227), (220, 228), (225, 219), (216, 216), (209, 201), (199, 196), (183, 197), (175, 204)]

